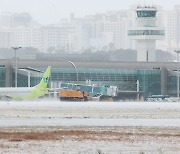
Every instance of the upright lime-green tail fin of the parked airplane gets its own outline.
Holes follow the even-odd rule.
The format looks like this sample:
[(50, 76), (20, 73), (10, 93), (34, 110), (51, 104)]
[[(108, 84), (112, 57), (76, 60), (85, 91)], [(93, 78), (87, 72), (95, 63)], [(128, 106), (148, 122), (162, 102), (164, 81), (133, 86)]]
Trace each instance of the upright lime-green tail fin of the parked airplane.
[(48, 66), (48, 68), (46, 69), (46, 72), (44, 73), (40, 83), (37, 85), (37, 88), (42, 88), (42, 89), (47, 88), (50, 73), (51, 73), (51, 66)]

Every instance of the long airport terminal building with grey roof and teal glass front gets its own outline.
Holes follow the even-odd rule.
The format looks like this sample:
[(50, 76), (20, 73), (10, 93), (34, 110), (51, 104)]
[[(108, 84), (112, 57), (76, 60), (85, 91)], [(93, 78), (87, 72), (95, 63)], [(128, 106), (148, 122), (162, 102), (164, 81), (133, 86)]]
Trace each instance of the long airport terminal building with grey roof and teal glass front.
[[(60, 83), (117, 86), (119, 97), (131, 98), (137, 93), (151, 95), (177, 95), (177, 62), (80, 62), (75, 68), (68, 61), (18, 60), (17, 86), (38, 84), (43, 71), (52, 66), (50, 87)], [(137, 84), (138, 82), (138, 84)], [(0, 87), (15, 86), (14, 60), (0, 61)]]

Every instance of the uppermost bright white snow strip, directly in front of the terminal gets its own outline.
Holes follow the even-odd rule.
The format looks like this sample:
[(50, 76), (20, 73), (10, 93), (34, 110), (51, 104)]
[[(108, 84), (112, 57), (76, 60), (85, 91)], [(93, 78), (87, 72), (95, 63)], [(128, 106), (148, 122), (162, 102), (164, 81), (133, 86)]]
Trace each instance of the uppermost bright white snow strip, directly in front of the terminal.
[(0, 107), (68, 107), (68, 108), (128, 108), (180, 109), (180, 102), (62, 102), (56, 99), (38, 101), (1, 101)]

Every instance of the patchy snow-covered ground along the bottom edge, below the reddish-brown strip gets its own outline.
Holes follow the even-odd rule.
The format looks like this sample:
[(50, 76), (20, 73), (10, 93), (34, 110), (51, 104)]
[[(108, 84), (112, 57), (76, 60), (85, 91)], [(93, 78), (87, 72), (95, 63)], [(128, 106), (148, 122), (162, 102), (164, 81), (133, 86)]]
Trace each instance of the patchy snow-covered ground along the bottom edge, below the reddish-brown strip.
[[(154, 147), (154, 145), (157, 145)], [(168, 143), (145, 141), (127, 143), (117, 141), (24, 141), (4, 142), (9, 147), (3, 153), (50, 153), (50, 154), (178, 154), (179, 149)]]

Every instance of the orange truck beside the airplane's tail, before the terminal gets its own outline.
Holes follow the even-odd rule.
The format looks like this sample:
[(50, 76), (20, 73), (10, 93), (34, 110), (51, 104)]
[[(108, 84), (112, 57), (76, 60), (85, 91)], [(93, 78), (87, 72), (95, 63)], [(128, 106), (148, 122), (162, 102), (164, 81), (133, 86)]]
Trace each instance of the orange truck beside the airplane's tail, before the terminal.
[(88, 92), (70, 89), (59, 90), (59, 97), (62, 101), (88, 101)]

